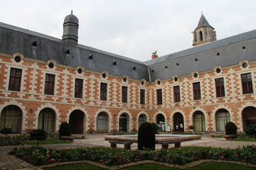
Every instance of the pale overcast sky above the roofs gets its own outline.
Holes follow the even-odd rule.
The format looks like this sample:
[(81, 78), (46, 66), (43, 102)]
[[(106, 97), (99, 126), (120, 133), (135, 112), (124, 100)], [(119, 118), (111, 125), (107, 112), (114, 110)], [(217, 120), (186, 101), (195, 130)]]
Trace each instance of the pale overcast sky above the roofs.
[(79, 44), (142, 62), (191, 48), (201, 11), (217, 40), (256, 28), (255, 0), (0, 0), (0, 8), (0, 22), (60, 39), (73, 9)]

